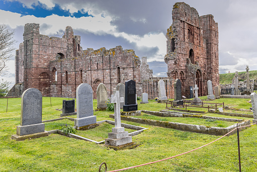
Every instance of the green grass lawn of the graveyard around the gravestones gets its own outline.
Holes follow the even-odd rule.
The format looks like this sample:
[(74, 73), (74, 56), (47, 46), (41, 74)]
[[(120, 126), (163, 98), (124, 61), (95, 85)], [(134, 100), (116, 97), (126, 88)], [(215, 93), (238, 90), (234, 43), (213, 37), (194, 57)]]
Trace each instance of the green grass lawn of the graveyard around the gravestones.
[[(59, 118), (61, 111), (56, 109), (62, 108), (63, 99), (65, 98), (52, 98), (51, 107), (50, 98), (43, 97), (42, 120)], [(205, 99), (205, 97), (201, 97), (201, 99)], [(248, 101), (249, 99), (217, 99), (212, 103), (224, 102), (225, 105), (230, 107), (249, 109), (251, 104)], [(158, 104), (154, 100), (149, 100), (149, 104), (140, 104), (139, 102), (139, 110), (159, 111), (166, 107), (166, 104)], [(171, 157), (220, 138), (220, 136), (182, 132), (170, 128), (122, 121), (123, 123), (148, 128), (143, 133), (132, 137), (133, 142), (136, 142), (138, 147), (131, 150), (114, 151), (102, 144), (76, 140), (59, 134), (50, 134), (48, 137), (17, 142), (11, 140), (11, 135), (16, 134), (16, 126), (20, 124), (21, 99), (9, 99), (8, 112), (6, 112), (7, 99), (0, 99), (0, 105), (0, 171), (98, 171), (102, 162), (107, 163), (108, 170), (114, 170)], [(93, 101), (93, 105), (96, 109), (96, 100)], [(188, 107), (187, 109), (207, 111), (207, 109), (194, 107)], [(225, 110), (225, 112), (252, 114), (251, 112), (237, 110)], [(113, 114), (113, 112), (94, 112), (97, 121), (114, 120), (109, 118), (109, 114)], [(204, 115), (251, 119), (213, 113), (205, 113)], [(69, 117), (76, 118), (75, 115)], [(143, 113), (140, 116), (140, 118), (146, 117), (155, 120), (176, 120), (209, 126), (224, 125), (226, 127), (230, 125), (226, 122), (212, 122), (197, 118), (163, 118)], [(62, 123), (74, 124), (67, 119), (45, 122), (45, 130), (58, 129)], [(111, 124), (102, 123), (90, 131), (79, 131), (76, 134), (101, 141), (107, 138), (112, 127)], [(127, 131), (133, 132), (133, 130)], [(257, 126), (254, 125), (240, 132), (242, 171), (255, 171), (257, 169), (256, 147)], [(185, 155), (125, 171), (239, 171), (237, 135), (224, 137), (213, 144)]]

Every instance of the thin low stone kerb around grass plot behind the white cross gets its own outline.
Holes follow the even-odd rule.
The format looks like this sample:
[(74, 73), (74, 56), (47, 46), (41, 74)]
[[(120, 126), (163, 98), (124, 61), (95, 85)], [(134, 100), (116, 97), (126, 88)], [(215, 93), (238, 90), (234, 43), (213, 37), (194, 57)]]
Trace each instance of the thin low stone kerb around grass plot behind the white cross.
[[(74, 121), (74, 118), (64, 117), (64, 118), (56, 118), (56, 119), (44, 120), (42, 122), (52, 122), (52, 121), (63, 120), (63, 119), (69, 119), (69, 120)], [(111, 121), (111, 120), (101, 120), (101, 121), (97, 121), (96, 123), (100, 124), (100, 123), (104, 123), (104, 122), (110, 123), (112, 125), (115, 124), (115, 122)], [(130, 124), (126, 124), (126, 123), (121, 123), (121, 126), (125, 127), (125, 128), (128, 128), (128, 129), (131, 129), (131, 130), (137, 130), (135, 132), (129, 133), (128, 134), (129, 136), (138, 135), (138, 134), (142, 133), (144, 130), (148, 129), (148, 128), (145, 128), (145, 127), (136, 126), (136, 125), (130, 125)], [(59, 134), (59, 135), (63, 135), (63, 136), (69, 137), (69, 138), (74, 138), (74, 139), (94, 142), (96, 144), (103, 144), (103, 143), (105, 143), (105, 140), (97, 142), (97, 141), (94, 141), (94, 140), (91, 140), (91, 139), (88, 139), (88, 138), (84, 138), (82, 136), (78, 136), (78, 135), (71, 134), (71, 133), (68, 133), (67, 135), (65, 135), (61, 130), (51, 130), (51, 131), (45, 131), (45, 132), (47, 132), (48, 134)]]

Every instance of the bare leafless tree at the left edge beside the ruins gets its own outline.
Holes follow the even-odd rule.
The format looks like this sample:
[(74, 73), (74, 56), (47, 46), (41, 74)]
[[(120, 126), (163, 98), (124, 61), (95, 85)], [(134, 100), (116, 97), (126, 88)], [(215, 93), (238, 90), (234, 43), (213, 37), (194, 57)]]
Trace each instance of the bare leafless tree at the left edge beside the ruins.
[(9, 30), (5, 24), (0, 24), (0, 75), (6, 70), (6, 62), (15, 50), (14, 30)]

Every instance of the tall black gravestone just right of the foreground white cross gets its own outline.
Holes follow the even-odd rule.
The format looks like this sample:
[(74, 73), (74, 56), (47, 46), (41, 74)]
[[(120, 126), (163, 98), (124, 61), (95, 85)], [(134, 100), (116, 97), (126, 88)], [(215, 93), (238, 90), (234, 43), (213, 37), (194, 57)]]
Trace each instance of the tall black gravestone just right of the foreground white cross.
[(137, 110), (136, 104), (136, 82), (134, 80), (128, 80), (125, 82), (125, 105), (123, 111), (135, 111)]

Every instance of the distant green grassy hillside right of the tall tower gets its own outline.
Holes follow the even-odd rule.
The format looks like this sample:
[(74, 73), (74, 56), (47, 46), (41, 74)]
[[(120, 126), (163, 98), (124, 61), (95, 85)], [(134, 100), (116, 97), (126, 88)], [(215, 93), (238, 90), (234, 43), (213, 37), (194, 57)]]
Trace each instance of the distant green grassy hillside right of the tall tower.
[[(220, 74), (220, 84), (232, 83), (232, 79), (235, 76), (235, 73), (224, 73)], [(249, 78), (256, 79), (257, 78), (257, 70), (249, 71)], [(238, 81), (246, 80), (246, 71), (238, 72)]]

